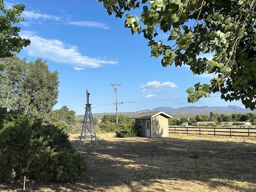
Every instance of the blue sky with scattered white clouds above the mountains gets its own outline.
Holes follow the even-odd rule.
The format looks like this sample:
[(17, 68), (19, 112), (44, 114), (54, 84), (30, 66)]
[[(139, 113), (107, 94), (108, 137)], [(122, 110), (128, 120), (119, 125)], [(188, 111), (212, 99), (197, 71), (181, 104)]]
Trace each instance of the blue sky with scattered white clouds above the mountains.
[[(193, 76), (189, 68), (163, 68), (161, 57), (150, 57), (143, 35), (124, 28), (125, 17), (108, 16), (102, 2), (96, 0), (8, 0), (6, 7), (22, 3), (26, 9), (20, 35), (31, 45), (18, 54), (34, 61), (47, 60), (51, 71), (59, 72), (59, 96), (54, 109), (66, 105), (84, 114), (86, 90), (90, 92), (92, 113), (116, 112), (118, 86), (119, 112), (135, 112), (160, 106), (244, 106), (240, 101), (225, 102), (220, 94), (211, 94), (198, 102), (187, 103), (187, 88), (210, 76)], [(138, 14), (138, 11), (133, 12)], [(161, 32), (160, 32), (161, 34)], [(159, 40), (168, 36), (161, 34)], [(210, 55), (207, 55), (209, 58)]]

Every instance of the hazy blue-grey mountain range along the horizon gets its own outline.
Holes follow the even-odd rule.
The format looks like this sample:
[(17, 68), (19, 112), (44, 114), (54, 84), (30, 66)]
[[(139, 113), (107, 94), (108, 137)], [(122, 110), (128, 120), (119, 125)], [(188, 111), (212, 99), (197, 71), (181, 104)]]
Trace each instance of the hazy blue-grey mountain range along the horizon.
[[(234, 113), (250, 113), (252, 110), (250, 109), (244, 109), (238, 106), (227, 106), (227, 107), (222, 107), (222, 106), (215, 106), (215, 107), (208, 107), (208, 106), (188, 106), (188, 107), (180, 107), (180, 108), (171, 108), (171, 107), (157, 107), (152, 110), (146, 109), (146, 110), (139, 110), (136, 112), (118, 112), (118, 114), (123, 114), (129, 117), (133, 117), (138, 113), (142, 112), (153, 112), (153, 111), (162, 111), (167, 114), (170, 114), (173, 117), (180, 117), (180, 116), (187, 116), (187, 117), (193, 117), (196, 116), (197, 114), (210, 114), (210, 112), (214, 113), (219, 113), (219, 114), (234, 114)], [(252, 113), (256, 113), (256, 111), (253, 111)], [(115, 115), (116, 113), (94, 113), (92, 114), (93, 117), (96, 118), (102, 118), (105, 114), (111, 114)], [(78, 115), (76, 118), (83, 118), (83, 115)]]

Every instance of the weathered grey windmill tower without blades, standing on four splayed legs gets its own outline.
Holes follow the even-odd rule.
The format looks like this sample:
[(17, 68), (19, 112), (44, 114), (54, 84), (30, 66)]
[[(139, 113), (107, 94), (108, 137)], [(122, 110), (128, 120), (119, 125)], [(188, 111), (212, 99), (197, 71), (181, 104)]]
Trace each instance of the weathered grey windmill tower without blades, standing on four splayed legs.
[(96, 131), (94, 127), (94, 121), (92, 118), (92, 110), (91, 110), (91, 104), (89, 104), (89, 95), (88, 90), (86, 90), (86, 97), (87, 97), (87, 104), (86, 104), (86, 110), (84, 114), (84, 121), (83, 121), (83, 126), (81, 130), (81, 136), (80, 136), (80, 141), (83, 138), (84, 139), (84, 146), (85, 146), (85, 139), (86, 138), (95, 138), (96, 144), (97, 142), (97, 137), (96, 137)]

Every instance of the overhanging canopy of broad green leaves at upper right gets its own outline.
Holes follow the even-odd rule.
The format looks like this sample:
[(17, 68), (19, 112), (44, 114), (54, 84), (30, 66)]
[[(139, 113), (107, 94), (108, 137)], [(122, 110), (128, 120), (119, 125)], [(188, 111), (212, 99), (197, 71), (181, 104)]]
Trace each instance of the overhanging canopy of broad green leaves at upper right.
[[(220, 92), (228, 101), (242, 100), (256, 108), (255, 0), (98, 0), (109, 15), (143, 6), (140, 16), (126, 14), (125, 27), (142, 32), (151, 56), (162, 56), (162, 66), (189, 65), (193, 74), (211, 74), (208, 84), (188, 88), (188, 102)], [(168, 34), (169, 44), (156, 42)], [(203, 56), (213, 53), (212, 60)]]

